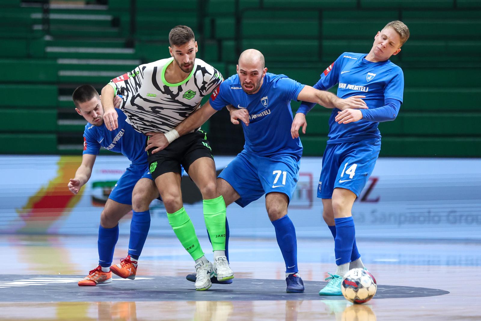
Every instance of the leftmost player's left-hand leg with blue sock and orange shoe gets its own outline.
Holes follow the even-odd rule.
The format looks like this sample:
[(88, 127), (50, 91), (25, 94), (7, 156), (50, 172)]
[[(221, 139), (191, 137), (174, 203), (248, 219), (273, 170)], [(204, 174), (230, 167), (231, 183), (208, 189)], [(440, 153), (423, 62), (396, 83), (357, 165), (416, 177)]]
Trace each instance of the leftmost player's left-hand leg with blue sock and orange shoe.
[(89, 271), (89, 274), (78, 282), (78, 286), (95, 286), (112, 282), (110, 265), (114, 256), (115, 244), (118, 240), (118, 222), (132, 206), (121, 204), (108, 198), (100, 215), (99, 227), (99, 265)]

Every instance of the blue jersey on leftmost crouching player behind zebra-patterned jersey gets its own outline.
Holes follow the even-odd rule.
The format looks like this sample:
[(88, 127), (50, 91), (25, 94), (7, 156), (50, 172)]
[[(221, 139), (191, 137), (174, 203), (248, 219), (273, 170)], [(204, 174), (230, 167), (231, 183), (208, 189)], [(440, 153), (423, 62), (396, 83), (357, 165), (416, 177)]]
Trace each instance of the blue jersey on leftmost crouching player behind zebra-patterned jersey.
[[(110, 131), (102, 126), (85, 125), (83, 154), (98, 155), (100, 147), (126, 156), (132, 164), (147, 164), (145, 135), (136, 131), (126, 122), (127, 116), (120, 109), (115, 109), (118, 128)], [(146, 165), (147, 166), (147, 165)]]

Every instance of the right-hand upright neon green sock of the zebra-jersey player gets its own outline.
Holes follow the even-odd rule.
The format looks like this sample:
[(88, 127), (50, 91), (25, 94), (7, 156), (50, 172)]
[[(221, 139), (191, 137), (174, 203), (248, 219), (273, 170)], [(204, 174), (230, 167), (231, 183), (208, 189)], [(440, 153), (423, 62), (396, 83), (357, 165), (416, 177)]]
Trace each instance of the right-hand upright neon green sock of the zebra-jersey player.
[(226, 203), (221, 196), (203, 200), (204, 221), (212, 243), (212, 249), (226, 249)]

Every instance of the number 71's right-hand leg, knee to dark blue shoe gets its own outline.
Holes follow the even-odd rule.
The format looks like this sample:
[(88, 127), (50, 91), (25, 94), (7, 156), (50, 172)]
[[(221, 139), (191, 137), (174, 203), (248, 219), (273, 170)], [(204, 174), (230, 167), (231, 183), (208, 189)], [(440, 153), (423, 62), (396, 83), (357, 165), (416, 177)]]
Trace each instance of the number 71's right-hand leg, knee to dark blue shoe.
[(297, 267), (297, 239), (294, 224), (287, 216), (289, 198), (284, 193), (268, 193), (266, 210), (276, 230), (277, 243), (286, 263), (287, 293), (304, 292), (304, 282)]

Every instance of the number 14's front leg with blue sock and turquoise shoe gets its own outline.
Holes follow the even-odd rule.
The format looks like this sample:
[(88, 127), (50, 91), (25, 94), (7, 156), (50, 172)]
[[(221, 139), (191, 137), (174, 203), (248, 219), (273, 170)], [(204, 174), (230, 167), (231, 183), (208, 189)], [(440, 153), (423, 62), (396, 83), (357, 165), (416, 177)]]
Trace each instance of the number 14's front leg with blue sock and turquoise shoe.
[(334, 243), (337, 269), (334, 275), (331, 274), (330, 277), (326, 279), (326, 281), (329, 280), (329, 282), (319, 291), (319, 295), (342, 295), (342, 277), (349, 271), (351, 257), (353, 255), (355, 232), (351, 210), (356, 197), (357, 196), (350, 190), (335, 188), (330, 202), (327, 199), (322, 200), (322, 204), (325, 207), (323, 210), (323, 218), (326, 223), (332, 224), (329, 203), (331, 204), (334, 215), (334, 225), (336, 229)]

